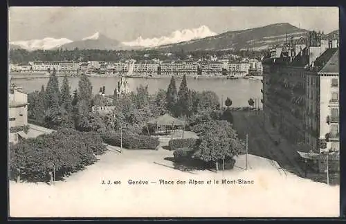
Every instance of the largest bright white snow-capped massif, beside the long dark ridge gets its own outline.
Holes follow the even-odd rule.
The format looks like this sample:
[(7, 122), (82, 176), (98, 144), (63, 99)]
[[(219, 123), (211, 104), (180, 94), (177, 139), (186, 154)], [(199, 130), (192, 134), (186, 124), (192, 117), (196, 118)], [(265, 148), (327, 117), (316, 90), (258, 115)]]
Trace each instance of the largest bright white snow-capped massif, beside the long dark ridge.
[(208, 26), (201, 26), (199, 28), (176, 30), (169, 36), (146, 38), (138, 37), (134, 41), (122, 42), (126, 46), (140, 46), (140, 47), (156, 47), (166, 44), (176, 44), (183, 41), (190, 41), (193, 39), (201, 39), (204, 37), (215, 36), (217, 33), (212, 32)]

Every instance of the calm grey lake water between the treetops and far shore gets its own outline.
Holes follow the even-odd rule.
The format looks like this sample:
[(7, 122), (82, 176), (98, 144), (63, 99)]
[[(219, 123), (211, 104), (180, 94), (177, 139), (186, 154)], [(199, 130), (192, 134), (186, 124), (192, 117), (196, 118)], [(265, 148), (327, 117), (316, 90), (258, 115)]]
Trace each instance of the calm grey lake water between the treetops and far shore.
[[(60, 86), (62, 84), (63, 77), (58, 78)], [(69, 77), (71, 91), (78, 88), (79, 77)], [(114, 88), (120, 77), (89, 77), (91, 84), (93, 85), (93, 93), (98, 93), (100, 87), (105, 86), (106, 95), (113, 95)], [(149, 93), (155, 93), (159, 88), (167, 89), (170, 84), (169, 77), (160, 78), (128, 78), (129, 89), (136, 91), (136, 87), (142, 85), (148, 85)], [(260, 102), (262, 98), (261, 88), (262, 82), (260, 80), (226, 80), (222, 78), (203, 78), (200, 77), (194, 80), (192, 77), (187, 78), (188, 88), (194, 89), (195, 91), (214, 91), (219, 96), (220, 101), (226, 100), (226, 97), (230, 97), (233, 102), (232, 106), (248, 106), (248, 99), (252, 97), (254, 100)], [(23, 87), (24, 91), (28, 93), (33, 91), (39, 91), (41, 86), (48, 83), (48, 77), (32, 79), (32, 80), (21, 80), (14, 79), (13, 82), (18, 86)], [(176, 88), (179, 90), (181, 78), (176, 77)], [(262, 104), (260, 103), (262, 107)]]

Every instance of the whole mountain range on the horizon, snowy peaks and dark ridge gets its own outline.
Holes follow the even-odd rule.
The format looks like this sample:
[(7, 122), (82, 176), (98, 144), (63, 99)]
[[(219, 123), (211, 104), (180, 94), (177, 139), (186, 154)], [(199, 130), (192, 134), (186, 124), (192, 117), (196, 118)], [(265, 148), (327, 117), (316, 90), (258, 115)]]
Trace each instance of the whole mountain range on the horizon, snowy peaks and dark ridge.
[[(140, 50), (157, 49), (163, 51), (193, 51), (193, 50), (229, 50), (254, 49), (262, 50), (275, 44), (283, 44), (291, 39), (306, 37), (309, 30), (292, 26), (288, 23), (271, 24), (247, 30), (228, 31), (217, 35), (207, 26), (191, 30), (176, 30), (169, 36), (143, 39), (138, 37), (134, 41), (120, 42), (102, 35), (100, 32), (72, 41), (66, 38), (44, 38), (30, 41), (10, 42), (10, 49), (23, 48), (26, 50), (54, 50), (58, 48), (73, 50)], [(330, 32), (327, 37), (338, 36), (338, 30)]]

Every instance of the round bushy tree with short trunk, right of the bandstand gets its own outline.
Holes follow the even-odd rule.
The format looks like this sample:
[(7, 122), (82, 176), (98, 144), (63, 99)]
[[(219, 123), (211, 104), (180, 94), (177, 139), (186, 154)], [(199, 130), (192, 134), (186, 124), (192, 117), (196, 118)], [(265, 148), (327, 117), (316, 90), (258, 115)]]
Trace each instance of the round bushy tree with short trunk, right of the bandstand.
[(210, 121), (204, 123), (204, 127), (199, 134), (194, 156), (205, 162), (215, 162), (217, 170), (221, 160), (231, 159), (245, 151), (244, 142), (237, 138), (237, 132), (228, 122)]

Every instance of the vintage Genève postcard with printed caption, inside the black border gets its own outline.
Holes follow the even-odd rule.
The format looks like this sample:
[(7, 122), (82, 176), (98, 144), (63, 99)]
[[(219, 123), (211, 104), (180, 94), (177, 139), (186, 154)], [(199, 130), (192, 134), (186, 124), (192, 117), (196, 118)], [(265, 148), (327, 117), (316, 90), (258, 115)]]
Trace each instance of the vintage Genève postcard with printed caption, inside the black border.
[(338, 217), (336, 7), (10, 7), (10, 217)]

